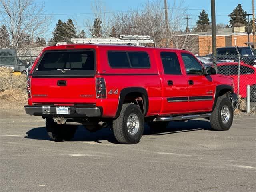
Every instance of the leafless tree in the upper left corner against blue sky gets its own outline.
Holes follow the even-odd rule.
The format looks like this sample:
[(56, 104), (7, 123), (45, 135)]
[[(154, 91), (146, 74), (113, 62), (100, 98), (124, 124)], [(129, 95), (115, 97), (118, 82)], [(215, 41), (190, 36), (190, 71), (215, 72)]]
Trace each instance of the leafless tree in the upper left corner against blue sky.
[(0, 0), (0, 16), (10, 36), (10, 48), (18, 54), (26, 54), (36, 45), (34, 38), (44, 36), (50, 24), (44, 4), (34, 0)]

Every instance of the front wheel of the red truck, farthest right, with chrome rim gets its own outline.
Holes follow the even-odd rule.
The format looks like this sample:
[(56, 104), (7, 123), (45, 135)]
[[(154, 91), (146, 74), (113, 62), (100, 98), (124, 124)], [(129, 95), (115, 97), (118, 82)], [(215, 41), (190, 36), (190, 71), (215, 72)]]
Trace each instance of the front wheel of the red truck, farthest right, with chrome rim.
[(229, 130), (233, 122), (233, 112), (231, 100), (227, 95), (218, 97), (216, 106), (210, 116), (212, 129), (218, 131)]

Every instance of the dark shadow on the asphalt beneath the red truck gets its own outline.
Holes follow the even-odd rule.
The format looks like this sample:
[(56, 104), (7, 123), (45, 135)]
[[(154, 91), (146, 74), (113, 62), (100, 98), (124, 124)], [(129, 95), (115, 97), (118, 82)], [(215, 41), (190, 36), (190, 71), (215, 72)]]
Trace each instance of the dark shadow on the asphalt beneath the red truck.
[[(154, 135), (161, 136), (167, 134), (175, 134), (181, 132), (191, 132), (191, 131), (199, 131), (199, 130), (212, 130), (210, 127), (209, 121), (205, 120), (189, 120), (188, 122), (170, 122), (166, 129), (159, 129), (157, 131), (152, 131), (145, 124), (143, 135)], [(45, 127), (37, 127), (26, 132), (27, 136), (25, 138), (28, 139), (36, 139), (36, 140), (51, 140), (48, 137)], [(98, 132), (89, 132), (83, 126), (78, 126), (76, 130), (76, 134), (72, 141), (94, 141), (97, 143), (101, 143), (101, 141), (107, 140), (111, 143), (117, 143), (114, 138), (113, 132), (109, 128), (103, 128)]]

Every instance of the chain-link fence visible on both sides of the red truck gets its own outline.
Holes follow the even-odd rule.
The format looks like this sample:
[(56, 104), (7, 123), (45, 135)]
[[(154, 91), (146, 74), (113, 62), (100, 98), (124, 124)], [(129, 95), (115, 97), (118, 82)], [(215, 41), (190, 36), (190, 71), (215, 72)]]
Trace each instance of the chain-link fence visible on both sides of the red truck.
[[(37, 56), (0, 55), (0, 67), (28, 74)], [(251, 109), (256, 111), (256, 56), (198, 56), (204, 67), (212, 66), (218, 74), (234, 79), (239, 108), (246, 110), (247, 85), (250, 85)]]

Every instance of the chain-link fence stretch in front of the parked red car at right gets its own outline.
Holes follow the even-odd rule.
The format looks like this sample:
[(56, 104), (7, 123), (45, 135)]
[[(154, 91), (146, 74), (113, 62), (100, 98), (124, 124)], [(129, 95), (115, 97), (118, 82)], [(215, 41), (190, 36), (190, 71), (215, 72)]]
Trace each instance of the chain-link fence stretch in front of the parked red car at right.
[(198, 56), (204, 67), (212, 66), (217, 74), (234, 79), (238, 108), (246, 110), (247, 85), (250, 85), (250, 105), (256, 111), (256, 56)]

